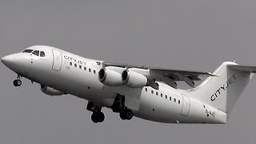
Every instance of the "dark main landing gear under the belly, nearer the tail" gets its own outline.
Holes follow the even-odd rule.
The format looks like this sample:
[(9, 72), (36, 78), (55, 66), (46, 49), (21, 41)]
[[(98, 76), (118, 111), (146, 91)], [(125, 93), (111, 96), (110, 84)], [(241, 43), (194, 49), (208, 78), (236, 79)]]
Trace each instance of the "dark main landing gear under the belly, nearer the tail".
[(114, 99), (114, 104), (112, 106), (113, 112), (119, 113), (119, 116), (122, 120), (130, 120), (134, 117), (132, 110), (129, 110), (125, 106), (125, 96), (118, 94)]

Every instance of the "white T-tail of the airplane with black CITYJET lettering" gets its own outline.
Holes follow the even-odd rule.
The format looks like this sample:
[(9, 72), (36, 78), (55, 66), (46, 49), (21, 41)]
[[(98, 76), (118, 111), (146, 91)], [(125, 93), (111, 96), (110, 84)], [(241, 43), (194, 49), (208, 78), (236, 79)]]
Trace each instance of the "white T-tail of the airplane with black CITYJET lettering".
[(256, 66), (223, 62), (213, 77), (189, 90), (190, 96), (229, 114), (255, 72)]

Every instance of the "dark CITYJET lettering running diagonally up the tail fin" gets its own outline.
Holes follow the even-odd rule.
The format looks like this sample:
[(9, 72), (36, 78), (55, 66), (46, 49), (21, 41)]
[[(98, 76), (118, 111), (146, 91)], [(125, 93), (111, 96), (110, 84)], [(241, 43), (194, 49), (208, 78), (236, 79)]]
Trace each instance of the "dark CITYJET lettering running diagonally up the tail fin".
[(218, 98), (219, 95), (222, 94), (222, 92), (226, 91), (236, 80), (235, 74), (233, 74), (224, 84), (223, 86), (220, 86), (218, 90), (214, 94), (211, 95), (210, 100), (215, 101), (216, 98)]

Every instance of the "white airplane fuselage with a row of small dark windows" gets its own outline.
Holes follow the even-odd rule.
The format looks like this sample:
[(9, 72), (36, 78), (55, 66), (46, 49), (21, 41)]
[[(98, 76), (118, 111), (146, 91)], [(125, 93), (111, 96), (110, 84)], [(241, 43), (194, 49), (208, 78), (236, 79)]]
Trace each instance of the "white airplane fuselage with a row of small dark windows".
[(138, 118), (168, 123), (226, 123), (226, 113), (191, 98), (185, 90), (174, 89), (163, 82), (158, 82), (158, 90), (150, 86), (106, 86), (98, 80), (103, 61), (82, 58), (50, 46), (34, 46), (34, 50), (42, 50), (46, 56), (18, 53), (7, 56), (12, 57), (12, 62), (8, 62), (8, 58), (2, 58), (2, 62), (33, 82), (101, 107), (111, 108), (117, 95), (125, 96), (126, 106)]

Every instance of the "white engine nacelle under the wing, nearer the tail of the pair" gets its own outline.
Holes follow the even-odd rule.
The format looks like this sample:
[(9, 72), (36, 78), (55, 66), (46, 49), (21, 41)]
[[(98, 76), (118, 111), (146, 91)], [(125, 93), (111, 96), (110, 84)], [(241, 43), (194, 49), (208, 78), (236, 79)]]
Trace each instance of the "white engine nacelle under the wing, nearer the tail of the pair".
[(148, 85), (148, 79), (143, 74), (133, 70), (124, 70), (122, 72), (122, 84), (132, 88), (142, 88)]

